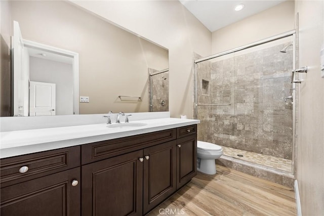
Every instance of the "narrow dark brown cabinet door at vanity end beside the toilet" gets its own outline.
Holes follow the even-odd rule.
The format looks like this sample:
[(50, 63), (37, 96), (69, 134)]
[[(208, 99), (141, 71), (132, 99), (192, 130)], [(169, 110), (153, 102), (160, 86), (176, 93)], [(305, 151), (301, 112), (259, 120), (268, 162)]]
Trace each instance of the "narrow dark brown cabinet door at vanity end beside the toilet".
[(177, 140), (177, 189), (197, 174), (197, 136)]

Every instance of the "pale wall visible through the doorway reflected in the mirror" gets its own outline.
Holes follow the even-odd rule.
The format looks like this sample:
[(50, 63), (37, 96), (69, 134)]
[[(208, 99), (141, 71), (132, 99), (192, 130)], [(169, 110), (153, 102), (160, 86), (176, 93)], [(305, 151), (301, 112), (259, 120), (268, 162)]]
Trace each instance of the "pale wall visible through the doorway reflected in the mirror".
[(73, 114), (73, 68), (71, 64), (30, 57), (30, 81), (56, 84), (56, 115)]

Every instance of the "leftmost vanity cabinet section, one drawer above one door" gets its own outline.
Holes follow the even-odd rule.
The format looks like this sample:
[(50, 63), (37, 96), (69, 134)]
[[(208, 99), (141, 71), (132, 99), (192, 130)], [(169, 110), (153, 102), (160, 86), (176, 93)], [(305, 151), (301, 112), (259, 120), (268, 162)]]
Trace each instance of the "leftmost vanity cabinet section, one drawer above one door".
[(2, 159), (1, 215), (80, 215), (79, 166), (79, 146)]

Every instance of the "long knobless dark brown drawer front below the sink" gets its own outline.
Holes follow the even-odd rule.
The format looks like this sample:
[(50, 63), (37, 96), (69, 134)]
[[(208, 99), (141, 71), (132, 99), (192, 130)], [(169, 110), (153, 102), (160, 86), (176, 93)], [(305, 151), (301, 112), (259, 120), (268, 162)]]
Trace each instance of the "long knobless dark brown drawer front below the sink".
[(176, 128), (82, 145), (82, 164), (126, 154), (177, 138)]

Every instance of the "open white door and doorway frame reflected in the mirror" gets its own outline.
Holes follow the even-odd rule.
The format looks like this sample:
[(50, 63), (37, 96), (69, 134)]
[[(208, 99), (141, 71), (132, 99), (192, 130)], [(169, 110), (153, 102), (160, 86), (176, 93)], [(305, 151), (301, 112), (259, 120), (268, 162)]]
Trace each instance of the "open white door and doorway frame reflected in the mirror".
[[(77, 53), (24, 40), (19, 23), (14, 21), (13, 62), (14, 116), (78, 114)], [(36, 85), (36, 88), (30, 85), (28, 89), (29, 81), (30, 84), (34, 82), (53, 83), (55, 101), (52, 101), (53, 93), (50, 95), (51, 91), (45, 88), (44, 84)], [(37, 88), (43, 89), (43, 92), (36, 91)], [(46, 96), (42, 95), (45, 93), (47, 93)], [(35, 97), (31, 98), (31, 96)], [(53, 104), (56, 107), (52, 107)], [(38, 110), (43, 106), (47, 111)]]

